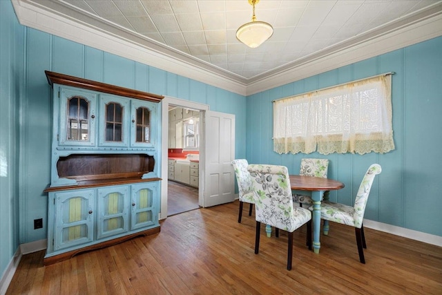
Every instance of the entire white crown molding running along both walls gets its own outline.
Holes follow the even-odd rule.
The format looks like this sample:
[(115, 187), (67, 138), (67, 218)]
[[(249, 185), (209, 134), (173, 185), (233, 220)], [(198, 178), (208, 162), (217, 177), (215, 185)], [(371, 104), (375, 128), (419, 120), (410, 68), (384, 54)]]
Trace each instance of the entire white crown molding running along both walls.
[[(46, 6), (43, 3), (46, 3)], [(35, 0), (12, 0), (12, 4), (17, 19), (23, 26), (240, 95), (267, 91), (442, 35), (442, 1), (440, 1), (413, 15), (343, 41), (336, 46), (325, 48), (319, 53), (246, 79), (180, 53), (157, 41), (149, 41), (134, 35), (124, 28), (110, 26), (84, 13), (69, 10), (71, 15), (69, 17), (67, 13), (63, 13), (67, 12), (68, 8), (57, 1), (38, 3)]]

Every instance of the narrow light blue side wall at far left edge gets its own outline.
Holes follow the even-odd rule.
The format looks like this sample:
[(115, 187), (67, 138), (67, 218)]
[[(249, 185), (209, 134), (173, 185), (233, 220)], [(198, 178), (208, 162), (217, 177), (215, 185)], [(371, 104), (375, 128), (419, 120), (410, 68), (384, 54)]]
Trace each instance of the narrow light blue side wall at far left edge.
[(24, 28), (10, 1), (0, 1), (0, 278), (19, 247), (18, 131), (23, 34)]

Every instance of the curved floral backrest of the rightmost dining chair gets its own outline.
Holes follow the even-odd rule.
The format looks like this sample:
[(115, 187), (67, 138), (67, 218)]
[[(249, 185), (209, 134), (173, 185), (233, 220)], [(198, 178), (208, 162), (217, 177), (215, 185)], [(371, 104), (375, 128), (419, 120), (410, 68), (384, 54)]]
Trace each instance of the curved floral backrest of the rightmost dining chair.
[(372, 189), (372, 184), (374, 177), (381, 173), (381, 165), (372, 164), (369, 166), (367, 173), (365, 173), (364, 178), (359, 186), (358, 193), (356, 194), (356, 199), (354, 200), (354, 226), (359, 229), (362, 227), (365, 207), (367, 206), (367, 200)]

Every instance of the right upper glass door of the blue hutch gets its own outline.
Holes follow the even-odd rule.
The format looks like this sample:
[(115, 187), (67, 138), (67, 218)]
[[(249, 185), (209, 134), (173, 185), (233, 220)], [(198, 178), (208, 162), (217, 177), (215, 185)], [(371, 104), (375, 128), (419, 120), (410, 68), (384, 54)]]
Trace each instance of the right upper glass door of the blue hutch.
[[(133, 100), (131, 146), (153, 147), (157, 135), (157, 104)], [(155, 124), (155, 127), (153, 126)]]

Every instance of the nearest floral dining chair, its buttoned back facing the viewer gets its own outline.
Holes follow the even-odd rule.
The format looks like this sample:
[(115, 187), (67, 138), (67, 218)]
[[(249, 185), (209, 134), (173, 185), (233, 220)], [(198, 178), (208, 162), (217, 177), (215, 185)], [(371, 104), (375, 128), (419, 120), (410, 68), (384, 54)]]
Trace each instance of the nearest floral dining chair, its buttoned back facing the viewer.
[(293, 257), (293, 232), (307, 223), (307, 240), (311, 249), (311, 212), (301, 207), (294, 207), (291, 198), (289, 171), (286, 166), (249, 165), (256, 212), (255, 254), (260, 247), (261, 222), (288, 231), (287, 269), (291, 269)]

